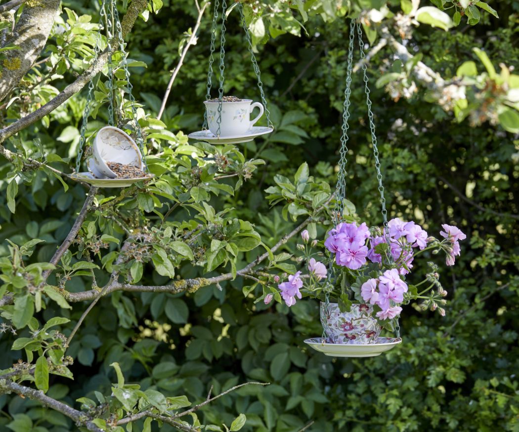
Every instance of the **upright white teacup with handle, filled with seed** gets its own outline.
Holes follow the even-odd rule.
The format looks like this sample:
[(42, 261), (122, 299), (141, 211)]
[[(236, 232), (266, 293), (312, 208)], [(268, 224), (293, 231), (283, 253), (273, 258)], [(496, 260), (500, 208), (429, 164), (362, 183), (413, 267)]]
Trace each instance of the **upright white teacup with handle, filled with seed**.
[[(239, 102), (222, 102), (222, 121), (220, 122), (220, 133), (218, 133), (218, 101), (204, 101), (204, 104), (207, 110), (209, 130), (219, 136), (236, 136), (249, 132), (265, 111), (260, 102), (253, 103), (250, 99), (242, 99)], [(251, 112), (256, 107), (260, 108), (260, 114), (251, 120)]]

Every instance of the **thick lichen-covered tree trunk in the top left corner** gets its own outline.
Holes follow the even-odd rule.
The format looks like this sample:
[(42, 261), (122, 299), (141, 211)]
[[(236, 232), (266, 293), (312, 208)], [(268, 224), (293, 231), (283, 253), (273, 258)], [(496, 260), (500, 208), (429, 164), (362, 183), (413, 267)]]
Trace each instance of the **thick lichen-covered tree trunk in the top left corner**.
[[(13, 3), (16, 1), (1, 6), (0, 10), (18, 6)], [(22, 2), (18, 1), (18, 3)], [(46, 0), (34, 5), (25, 5), (15, 30), (4, 41), (4, 45), (13, 44), (18, 49), (5, 52), (6, 59), (3, 61), (5, 67), (0, 76), (0, 101), (20, 82), (42, 52), (60, 3), (60, 0)]]

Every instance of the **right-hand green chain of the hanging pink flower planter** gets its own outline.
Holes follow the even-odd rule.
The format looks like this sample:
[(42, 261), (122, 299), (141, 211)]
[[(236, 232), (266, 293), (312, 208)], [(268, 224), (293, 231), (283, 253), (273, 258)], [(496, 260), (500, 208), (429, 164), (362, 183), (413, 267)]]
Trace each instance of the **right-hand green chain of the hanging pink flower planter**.
[[(366, 55), (364, 54), (364, 42), (362, 41), (362, 29), (359, 21), (355, 22), (355, 26), (357, 27), (357, 34), (359, 36), (359, 46), (360, 46), (360, 57), (362, 62), (362, 73), (364, 77), (364, 91), (366, 93), (366, 104), (367, 104), (367, 114), (370, 119), (370, 129), (371, 129), (371, 141), (373, 143), (373, 156), (375, 157), (375, 169), (377, 171), (377, 180), (378, 180), (378, 191), (380, 192), (380, 204), (382, 206), (382, 217), (384, 219), (384, 235), (386, 237), (387, 244), (391, 247), (391, 238), (389, 236), (389, 226), (388, 226), (388, 217), (386, 210), (386, 198), (384, 198), (384, 186), (382, 185), (382, 174), (380, 172), (380, 160), (378, 158), (378, 147), (377, 147), (377, 136), (375, 134), (375, 122), (373, 121), (373, 112), (371, 110), (371, 100), (370, 100), (370, 88), (368, 87), (368, 79), (367, 79), (367, 65), (366, 65)], [(389, 259), (392, 260), (393, 256), (390, 253)], [(400, 338), (400, 323), (397, 318), (393, 319), (393, 326), (395, 329), (395, 333), (397, 333), (397, 338)]]

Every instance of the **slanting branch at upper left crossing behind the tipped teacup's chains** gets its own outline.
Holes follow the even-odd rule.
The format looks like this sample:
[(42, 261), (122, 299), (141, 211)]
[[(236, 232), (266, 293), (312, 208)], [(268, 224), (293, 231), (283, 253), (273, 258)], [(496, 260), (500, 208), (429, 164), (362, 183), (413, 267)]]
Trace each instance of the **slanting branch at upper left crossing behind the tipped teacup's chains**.
[[(130, 32), (135, 20), (147, 6), (146, 0), (133, 0), (128, 6), (128, 11), (125, 17), (122, 19), (121, 28), (122, 28), (122, 37), (126, 37), (126, 35)], [(114, 42), (115, 46), (115, 42)], [(14, 50), (16, 51), (16, 50)], [(15, 133), (20, 132), (22, 129), (30, 126), (32, 123), (44, 118), (48, 114), (50, 114), (54, 109), (58, 106), (66, 102), (70, 99), (74, 94), (79, 92), (85, 85), (102, 71), (104, 64), (108, 61), (108, 49), (103, 51), (97, 60), (93, 62), (93, 64), (85, 71), (83, 74), (79, 75), (79, 77), (71, 83), (69, 86), (65, 87), (65, 89), (59, 93), (54, 99), (51, 99), (44, 106), (37, 109), (35, 112), (25, 116), (14, 123), (12, 123), (7, 128), (0, 130), (0, 144), (3, 143), (7, 138), (14, 135)], [(2, 146), (0, 146), (2, 147)], [(0, 148), (0, 152), (2, 152), (2, 148)]]

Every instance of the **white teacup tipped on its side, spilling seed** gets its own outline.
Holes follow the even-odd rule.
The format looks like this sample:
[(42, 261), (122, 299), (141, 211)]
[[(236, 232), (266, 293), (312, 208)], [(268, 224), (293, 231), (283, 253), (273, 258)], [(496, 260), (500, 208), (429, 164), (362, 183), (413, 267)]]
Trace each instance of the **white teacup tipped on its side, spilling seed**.
[(93, 157), (88, 168), (98, 178), (115, 178), (117, 175), (108, 168), (106, 162), (119, 162), (144, 169), (139, 147), (126, 132), (113, 126), (101, 128), (92, 145)]

